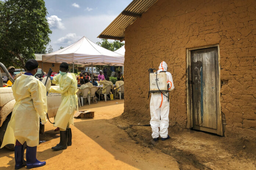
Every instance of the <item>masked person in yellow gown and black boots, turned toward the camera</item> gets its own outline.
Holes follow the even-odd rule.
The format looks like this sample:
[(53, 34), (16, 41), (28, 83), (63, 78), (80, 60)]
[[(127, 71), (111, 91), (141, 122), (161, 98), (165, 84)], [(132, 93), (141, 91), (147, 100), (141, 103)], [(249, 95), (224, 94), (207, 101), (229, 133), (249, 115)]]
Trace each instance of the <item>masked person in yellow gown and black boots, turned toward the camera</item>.
[(72, 144), (72, 133), (70, 124), (74, 125), (73, 115), (75, 108), (78, 108), (77, 97), (77, 79), (75, 74), (68, 73), (68, 64), (60, 64), (60, 74), (55, 77), (51, 77), (53, 84), (59, 84), (59, 87), (51, 87), (50, 93), (61, 94), (61, 104), (58, 108), (56, 117), (54, 119), (55, 127), (60, 128), (60, 143), (53, 150), (67, 149), (67, 146)]

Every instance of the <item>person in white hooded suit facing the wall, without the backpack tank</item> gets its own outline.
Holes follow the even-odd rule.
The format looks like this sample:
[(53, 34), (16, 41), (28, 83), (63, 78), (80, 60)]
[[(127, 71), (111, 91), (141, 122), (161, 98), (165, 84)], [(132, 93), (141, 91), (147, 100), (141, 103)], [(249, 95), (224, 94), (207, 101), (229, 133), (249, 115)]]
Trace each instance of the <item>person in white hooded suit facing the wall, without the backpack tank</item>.
[[(157, 73), (160, 73), (160, 71), (167, 71), (167, 64), (166, 62), (161, 62), (159, 66), (159, 70)], [(171, 76), (171, 73), (166, 72), (167, 77), (167, 84), (168, 84), (168, 91), (171, 91), (174, 89), (173, 85), (173, 77)], [(163, 94), (165, 95), (163, 95)], [(168, 135), (168, 126), (169, 126), (169, 110), (170, 110), (170, 103), (168, 102), (168, 93), (166, 92), (156, 92), (152, 93), (151, 99), (150, 99), (150, 125), (152, 128), (152, 137), (154, 141), (157, 141), (159, 138), (159, 134), (161, 137), (161, 140), (166, 140), (170, 138)], [(160, 127), (160, 130), (159, 130)]]

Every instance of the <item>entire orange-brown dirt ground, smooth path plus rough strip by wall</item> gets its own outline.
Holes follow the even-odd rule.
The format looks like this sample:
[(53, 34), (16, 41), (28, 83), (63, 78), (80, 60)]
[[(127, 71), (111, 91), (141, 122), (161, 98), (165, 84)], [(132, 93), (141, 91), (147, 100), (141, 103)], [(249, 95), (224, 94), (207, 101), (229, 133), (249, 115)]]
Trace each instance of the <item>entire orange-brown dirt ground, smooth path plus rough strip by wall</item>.
[[(171, 139), (154, 142), (149, 126), (129, 127), (149, 124), (150, 118), (126, 117), (122, 114), (124, 100), (100, 101), (79, 109), (95, 111), (95, 118), (74, 119), (72, 146), (65, 150), (51, 150), (59, 142), (59, 133), (46, 124), (37, 152), (46, 166), (38, 169), (256, 169), (256, 145), (252, 141), (170, 125)], [(14, 169), (14, 164), (14, 152), (0, 149), (0, 170)]]

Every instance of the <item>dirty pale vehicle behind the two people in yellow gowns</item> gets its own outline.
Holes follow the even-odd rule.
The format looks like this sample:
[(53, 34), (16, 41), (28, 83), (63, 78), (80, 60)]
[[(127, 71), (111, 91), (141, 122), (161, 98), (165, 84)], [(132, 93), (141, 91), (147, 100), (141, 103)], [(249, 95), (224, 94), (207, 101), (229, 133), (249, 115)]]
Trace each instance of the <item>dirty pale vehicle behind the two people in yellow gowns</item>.
[[(3, 69), (4, 65), (2, 63), (0, 63), (0, 66)], [(3, 70), (6, 70), (5, 72), (6, 74), (8, 74), (6, 68)], [(1, 72), (0, 72), (0, 75), (1, 75)], [(0, 80), (0, 85), (1, 86), (3, 85), (3, 81), (1, 80)], [(57, 93), (48, 94), (47, 107), (48, 107), (49, 118), (56, 116), (60, 103), (61, 103), (61, 94), (57, 94)], [(0, 145), (3, 141), (4, 133), (6, 132), (8, 122), (11, 119), (11, 113), (13, 111), (14, 104), (15, 104), (15, 99), (14, 99), (13, 90), (11, 89), (11, 87), (0, 87)], [(44, 126), (45, 125), (40, 124), (40, 133), (44, 132)], [(14, 150), (14, 145), (8, 144), (6, 145), (6, 148)]]

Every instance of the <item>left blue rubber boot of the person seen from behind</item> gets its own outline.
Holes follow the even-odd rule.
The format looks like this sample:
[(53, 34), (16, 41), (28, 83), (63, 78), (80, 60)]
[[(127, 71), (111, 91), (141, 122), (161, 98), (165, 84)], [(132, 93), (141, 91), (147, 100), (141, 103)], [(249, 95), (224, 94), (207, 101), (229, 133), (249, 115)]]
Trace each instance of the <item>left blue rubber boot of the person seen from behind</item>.
[(14, 169), (21, 169), (22, 167), (26, 166), (26, 161), (24, 160), (24, 149), (24, 145), (14, 147)]

